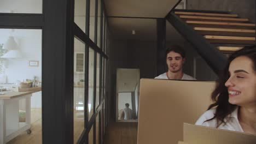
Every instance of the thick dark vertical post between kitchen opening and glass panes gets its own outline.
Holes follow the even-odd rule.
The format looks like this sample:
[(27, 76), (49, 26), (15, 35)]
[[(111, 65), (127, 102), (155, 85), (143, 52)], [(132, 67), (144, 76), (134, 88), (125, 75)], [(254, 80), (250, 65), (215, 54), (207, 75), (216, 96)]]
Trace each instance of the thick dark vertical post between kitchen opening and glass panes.
[(43, 14), (43, 143), (73, 143), (74, 1), (45, 0)]

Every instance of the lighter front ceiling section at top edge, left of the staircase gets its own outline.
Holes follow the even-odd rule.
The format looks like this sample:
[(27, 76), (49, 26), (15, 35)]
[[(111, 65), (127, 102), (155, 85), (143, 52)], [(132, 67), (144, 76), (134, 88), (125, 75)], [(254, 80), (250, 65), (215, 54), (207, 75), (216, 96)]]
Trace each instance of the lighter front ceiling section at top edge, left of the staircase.
[(108, 16), (164, 18), (179, 0), (105, 0)]

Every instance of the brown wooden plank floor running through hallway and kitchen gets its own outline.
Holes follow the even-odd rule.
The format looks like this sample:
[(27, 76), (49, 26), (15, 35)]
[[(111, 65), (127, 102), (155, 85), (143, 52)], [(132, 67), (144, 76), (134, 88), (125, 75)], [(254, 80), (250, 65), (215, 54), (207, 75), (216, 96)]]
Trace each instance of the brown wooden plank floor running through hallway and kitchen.
[[(42, 110), (31, 109), (31, 131), (28, 135), (25, 131), (21, 135), (9, 141), (8, 144), (40, 144), (42, 143)], [(97, 125), (98, 127), (98, 125)], [(136, 144), (137, 122), (118, 122), (109, 124), (106, 129), (105, 144)], [(74, 119), (74, 143), (79, 138), (84, 128), (84, 122)], [(90, 131), (92, 132), (92, 131)], [(92, 134), (92, 133), (91, 133)], [(89, 134), (90, 135), (90, 134)], [(92, 136), (91, 136), (92, 137)]]

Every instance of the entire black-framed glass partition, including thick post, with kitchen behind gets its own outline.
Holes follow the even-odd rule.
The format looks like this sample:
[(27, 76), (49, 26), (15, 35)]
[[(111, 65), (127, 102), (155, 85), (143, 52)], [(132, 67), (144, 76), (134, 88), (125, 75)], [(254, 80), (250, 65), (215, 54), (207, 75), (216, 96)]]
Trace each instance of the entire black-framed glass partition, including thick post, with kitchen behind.
[(103, 143), (104, 2), (4, 0), (0, 19), (0, 143)]

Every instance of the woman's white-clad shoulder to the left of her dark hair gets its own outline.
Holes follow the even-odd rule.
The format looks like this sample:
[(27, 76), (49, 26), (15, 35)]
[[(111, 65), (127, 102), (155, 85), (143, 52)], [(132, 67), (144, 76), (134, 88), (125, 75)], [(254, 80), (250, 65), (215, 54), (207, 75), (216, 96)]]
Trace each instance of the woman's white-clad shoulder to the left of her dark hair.
[[(211, 121), (207, 121), (208, 119), (211, 119), (214, 117), (215, 112), (216, 112), (216, 109), (211, 109), (211, 110), (206, 111), (205, 113), (203, 113), (200, 116), (199, 119), (197, 119), (195, 124), (196, 125), (204, 125), (207, 127), (215, 127), (215, 125), (216, 125), (215, 119), (212, 119)], [(205, 122), (205, 121), (207, 121), (207, 122)]]

